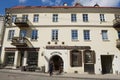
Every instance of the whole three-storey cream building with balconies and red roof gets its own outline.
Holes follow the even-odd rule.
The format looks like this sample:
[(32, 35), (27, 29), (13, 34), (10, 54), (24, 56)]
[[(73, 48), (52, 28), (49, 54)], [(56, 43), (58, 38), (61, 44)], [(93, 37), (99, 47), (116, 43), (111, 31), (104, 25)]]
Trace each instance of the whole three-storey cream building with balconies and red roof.
[(81, 74), (120, 73), (120, 8), (16, 6), (6, 9), (5, 68), (37, 66)]

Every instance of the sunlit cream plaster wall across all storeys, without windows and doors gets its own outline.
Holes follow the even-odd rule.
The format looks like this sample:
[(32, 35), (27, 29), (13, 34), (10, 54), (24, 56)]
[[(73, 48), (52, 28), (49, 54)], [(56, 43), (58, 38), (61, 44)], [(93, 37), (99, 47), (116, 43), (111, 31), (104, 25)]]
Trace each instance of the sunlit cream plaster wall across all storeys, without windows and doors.
[[(44, 66), (46, 64), (44, 56), (41, 56), (41, 54), (46, 53), (45, 47), (47, 45), (61, 45), (62, 46), (63, 45), (62, 42), (65, 42), (64, 45), (66, 46), (90, 46), (92, 50), (95, 50), (95, 53), (96, 53), (95, 72), (96, 73), (99, 73), (99, 68), (101, 67), (100, 66), (101, 62), (100, 60), (98, 60), (100, 59), (100, 55), (108, 55), (109, 53), (110, 55), (115, 55), (115, 56), (120, 57), (120, 54), (119, 54), (120, 51), (116, 48), (116, 39), (118, 39), (117, 31), (115, 28), (112, 27), (114, 14), (103, 13), (105, 14), (105, 22), (100, 22), (99, 13), (88, 13), (89, 22), (83, 22), (82, 14), (84, 13), (76, 13), (77, 22), (71, 22), (71, 13), (59, 13), (58, 22), (52, 22), (52, 13), (38, 13), (38, 14), (39, 14), (38, 23), (33, 23), (33, 16), (34, 16), (33, 13), (28, 14), (29, 20), (32, 22), (34, 27), (29, 27), (26, 29), (28, 30), (27, 38), (29, 40), (30, 40), (31, 30), (32, 29), (38, 30), (38, 40), (37, 41), (30, 40), (30, 41), (34, 47), (40, 47), (39, 60), (38, 60), (39, 66)], [(21, 17), (22, 14), (18, 14), (17, 16)], [(41, 27), (40, 25), (43, 25), (43, 26)], [(44, 25), (56, 25), (56, 26), (47, 27)], [(59, 25), (67, 25), (67, 26), (60, 27)], [(69, 27), (69, 25), (73, 25), (73, 26)], [(78, 27), (76, 27), (76, 25)], [(84, 25), (86, 25), (86, 27)], [(19, 36), (19, 31), (20, 31), (19, 27), (6, 28), (4, 44), (2, 48), (2, 59), (4, 57), (5, 47), (15, 47), (11, 45), (11, 41), (7, 41), (8, 31), (11, 29), (15, 30), (15, 36)], [(58, 44), (55, 44), (54, 41), (51, 41), (52, 29), (58, 29)], [(71, 40), (71, 30), (73, 29), (78, 30), (78, 41)], [(90, 41), (84, 41), (83, 30), (90, 30)], [(102, 40), (101, 30), (108, 30), (108, 41)], [(50, 42), (51, 44), (48, 44), (48, 42)], [(69, 63), (69, 57), (70, 57), (68, 55), (69, 51), (63, 50), (61, 51), (61, 53), (66, 53), (67, 56), (63, 56), (63, 58), (65, 59), (66, 62)], [(69, 72), (74, 72), (75, 70), (78, 70), (78, 69), (81, 72), (83, 71), (84, 66), (79, 67), (79, 68), (71, 68), (70, 65), (67, 64), (65, 67), (66, 67), (66, 71), (69, 71)]]

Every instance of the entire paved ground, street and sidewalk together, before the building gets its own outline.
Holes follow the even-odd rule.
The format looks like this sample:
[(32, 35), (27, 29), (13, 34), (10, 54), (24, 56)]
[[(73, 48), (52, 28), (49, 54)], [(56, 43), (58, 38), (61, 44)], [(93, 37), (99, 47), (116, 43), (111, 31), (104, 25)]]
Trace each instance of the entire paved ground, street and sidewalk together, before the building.
[(0, 69), (0, 80), (120, 80), (120, 75), (54, 74)]

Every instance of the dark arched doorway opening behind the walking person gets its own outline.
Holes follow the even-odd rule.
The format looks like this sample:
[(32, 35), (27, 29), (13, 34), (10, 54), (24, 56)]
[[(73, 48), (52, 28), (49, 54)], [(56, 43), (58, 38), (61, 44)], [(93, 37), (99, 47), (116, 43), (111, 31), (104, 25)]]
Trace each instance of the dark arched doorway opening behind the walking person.
[(54, 71), (63, 71), (63, 60), (60, 56), (53, 56), (51, 59), (50, 59), (50, 62), (53, 62), (54, 64)]

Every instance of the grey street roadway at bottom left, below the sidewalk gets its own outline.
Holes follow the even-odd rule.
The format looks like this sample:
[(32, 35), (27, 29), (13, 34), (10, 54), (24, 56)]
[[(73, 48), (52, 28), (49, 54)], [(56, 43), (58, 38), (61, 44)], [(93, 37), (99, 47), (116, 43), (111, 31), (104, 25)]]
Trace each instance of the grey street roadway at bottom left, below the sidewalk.
[(55, 76), (39, 76), (30, 74), (15, 74), (0, 72), (0, 80), (85, 80), (77, 78), (65, 78), (65, 77), (55, 77)]

